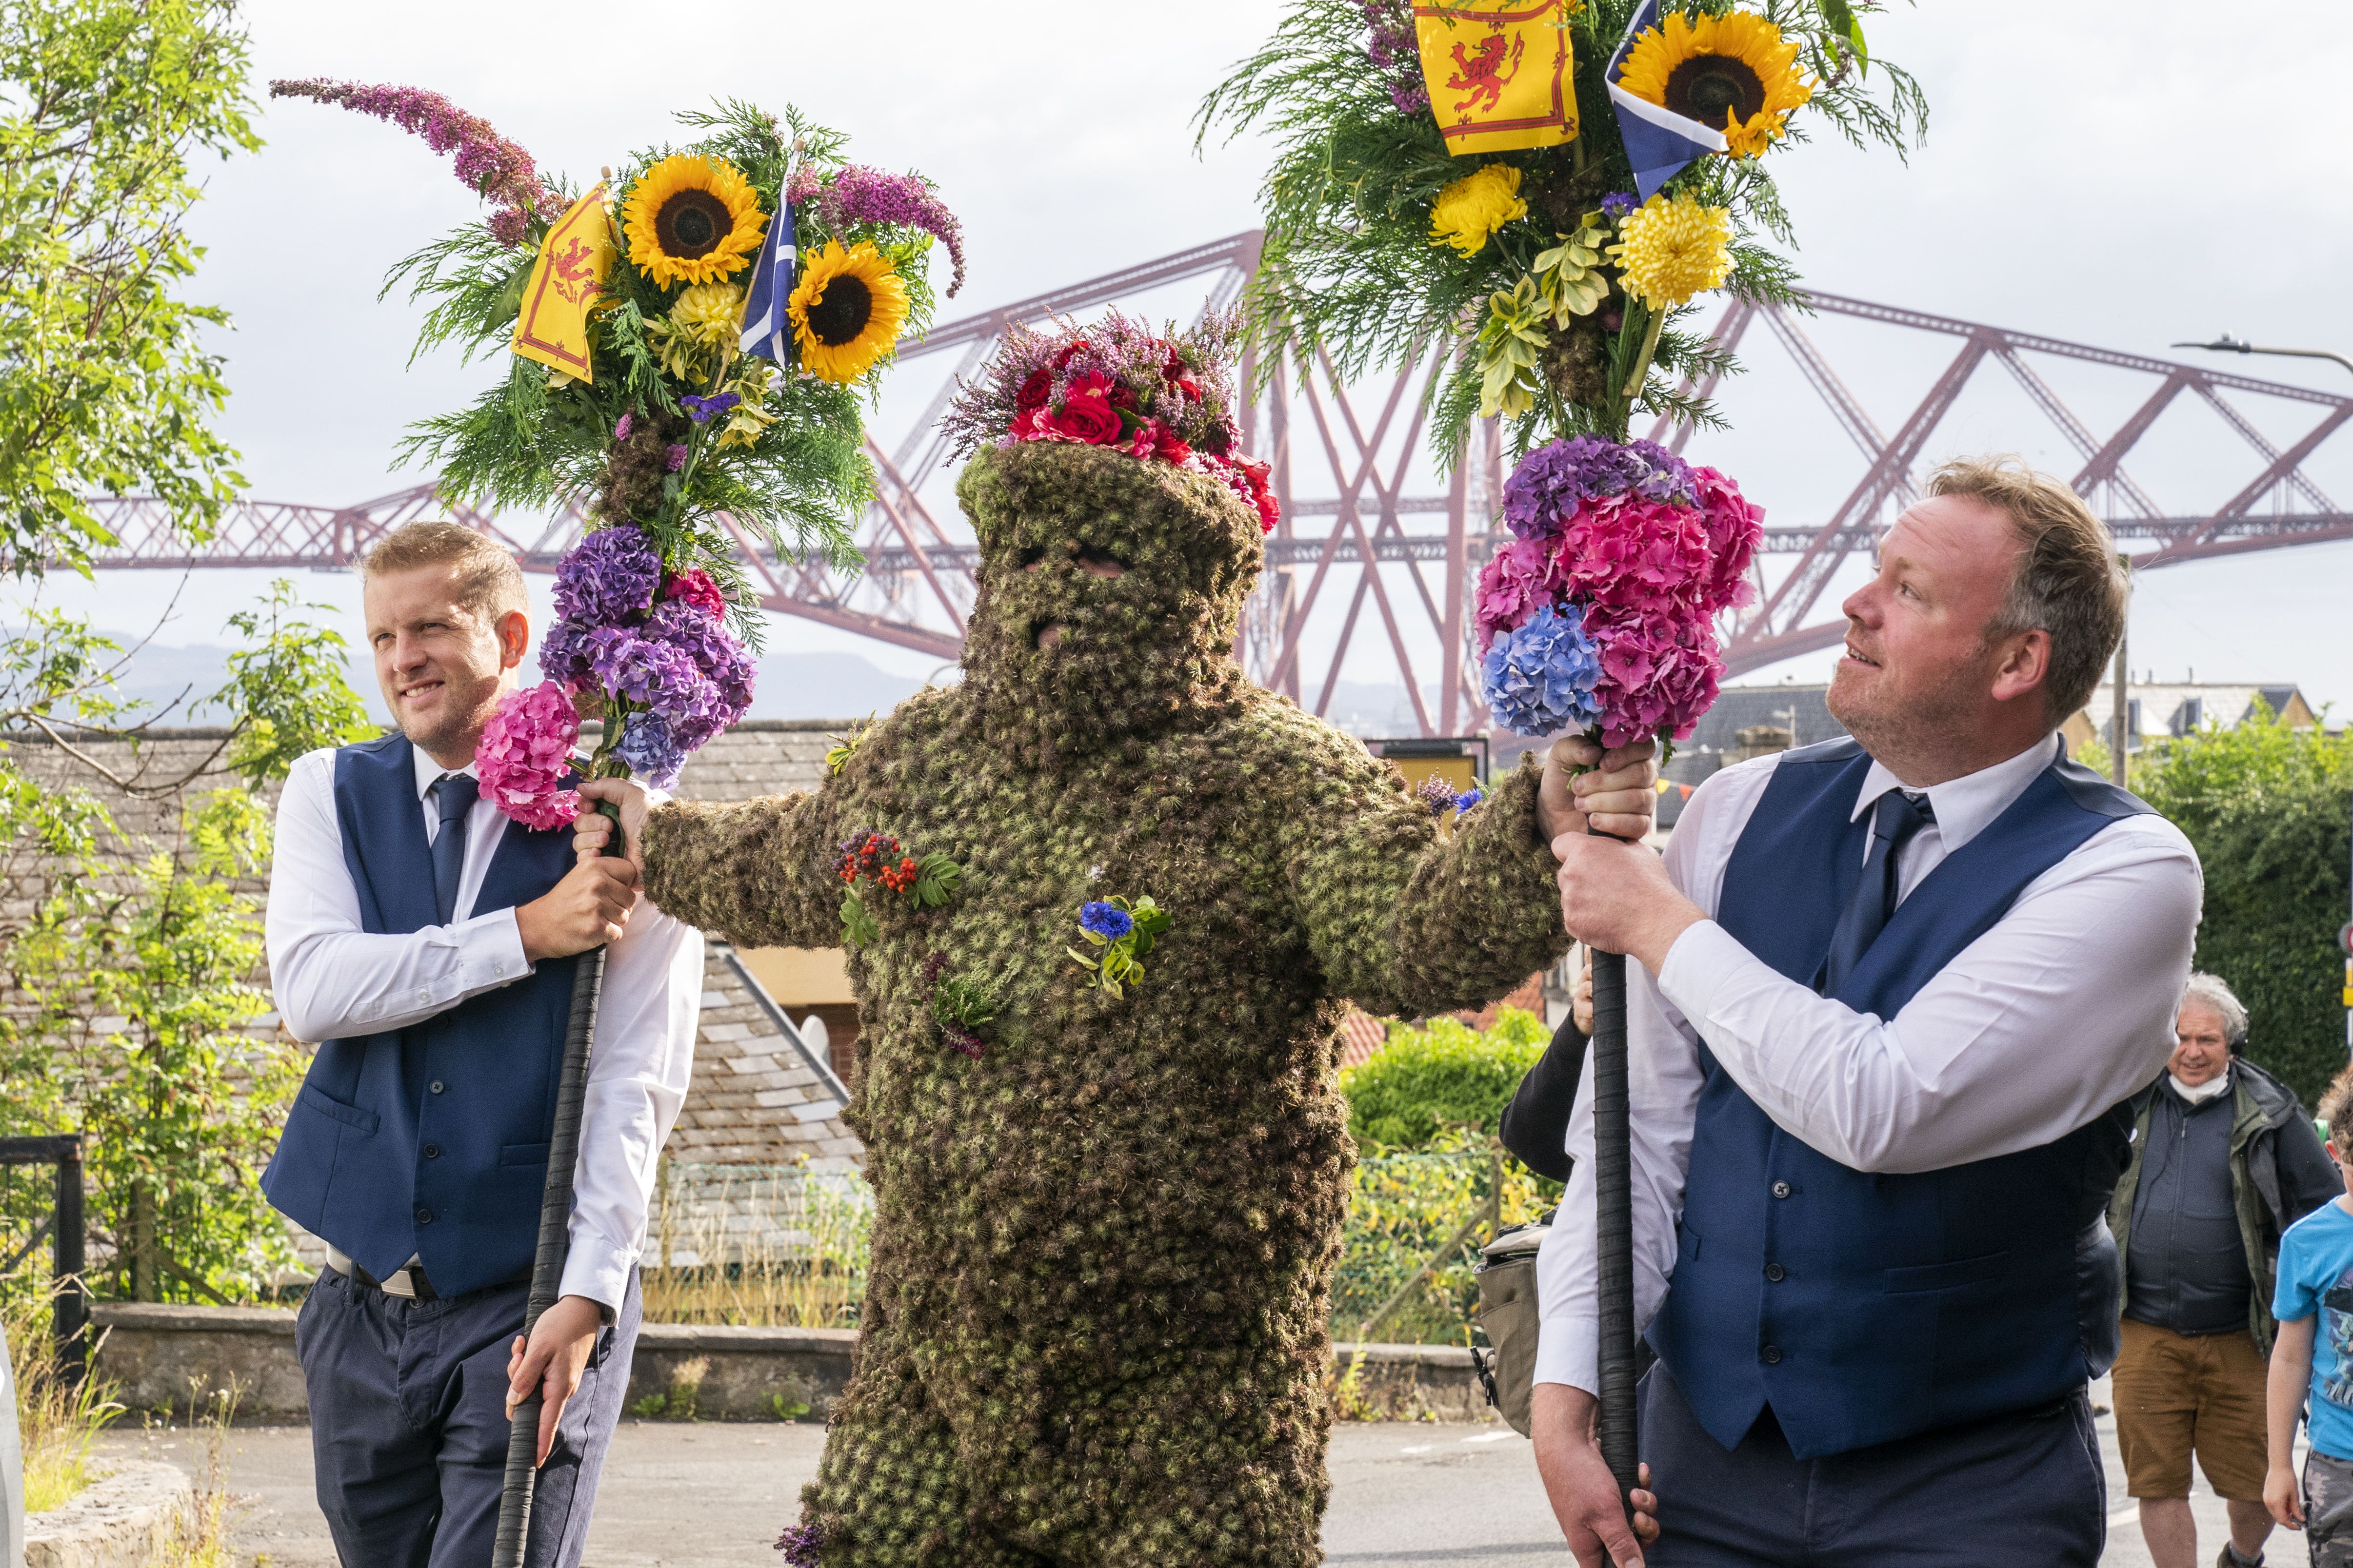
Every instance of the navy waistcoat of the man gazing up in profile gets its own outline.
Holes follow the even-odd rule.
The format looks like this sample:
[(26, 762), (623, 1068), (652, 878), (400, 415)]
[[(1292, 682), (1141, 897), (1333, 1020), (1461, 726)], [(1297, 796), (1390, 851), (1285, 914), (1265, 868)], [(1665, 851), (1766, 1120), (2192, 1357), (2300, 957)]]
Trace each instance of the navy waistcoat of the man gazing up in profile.
[[(1868, 771), (1854, 741), (1784, 752), (1725, 867), (1718, 924), (1800, 985), (1861, 877)], [(1838, 1001), (1894, 1018), (2028, 882), (2141, 811), (2061, 750), (1897, 905)], [(2049, 1041), (2052, 1074), (2066, 1051)], [(1847, 1453), (2049, 1403), (2115, 1359), (2122, 1281), (2101, 1215), (2129, 1140), (2122, 1105), (2038, 1150), (1871, 1175), (1774, 1126), (1706, 1044), (1699, 1060), (1675, 1272), (1649, 1340), (1718, 1443), (1737, 1446), (1769, 1403), (1800, 1460)]]

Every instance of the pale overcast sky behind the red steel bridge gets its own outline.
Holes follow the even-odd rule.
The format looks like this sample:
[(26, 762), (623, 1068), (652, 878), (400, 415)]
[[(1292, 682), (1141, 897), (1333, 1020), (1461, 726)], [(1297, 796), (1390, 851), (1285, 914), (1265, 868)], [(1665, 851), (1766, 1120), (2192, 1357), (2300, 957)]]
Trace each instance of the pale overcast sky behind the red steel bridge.
[[(431, 87), (579, 181), (666, 139), (678, 108), (793, 101), (852, 132), (856, 160), (939, 181), (972, 259), (944, 320), (1252, 228), (1264, 143), (1195, 158), (1191, 115), (1275, 14), (1238, 0), (1096, 7), (1082, 21), (1059, 7), (929, 0), (784, 2), (692, 21), (605, 0), (247, 7), (256, 92), (273, 75)], [(1927, 146), (1908, 167), (1885, 148), (1835, 141), (1777, 153), (1802, 242), (1795, 261), (1824, 292), (2132, 353), (2167, 355), (2174, 339), (2221, 329), (2353, 353), (2353, 153), (2325, 87), (2353, 80), (2341, 19), (2341, 5), (2322, 0), (2268, 5), (2254, 33), (2188, 0), (1899, 7), (1871, 21), (1871, 45), (1927, 85)], [(348, 503), (414, 484), (424, 475), (393, 470), (402, 428), (468, 400), (494, 367), (456, 355), (405, 367), (416, 310), (398, 296), (379, 303), (376, 287), (400, 254), (480, 205), (447, 162), (376, 120), (278, 101), (261, 108), (259, 129), (268, 146), (216, 167), (195, 216), (209, 254), (193, 296), (235, 315), (221, 336), (235, 388), (224, 430), (264, 498)], [(1191, 308), (1181, 296), (1151, 303)], [(1852, 320), (1809, 331), (1882, 430), (1958, 348)], [(1861, 458), (1765, 334), (1751, 334), (1746, 357), (1753, 371), (1722, 397), (1737, 428), (1697, 440), (1692, 456), (1732, 473), (1772, 520), (1817, 522), (1861, 477)], [(2035, 364), (2099, 437), (2151, 390), (2122, 371)], [(2353, 390), (2353, 374), (2332, 364), (2224, 367)], [(944, 371), (911, 364), (892, 409), (920, 404)], [(2240, 407), (2278, 444), (2313, 418), (2311, 404)], [(885, 444), (906, 425), (906, 414), (889, 423), (892, 409)], [(2078, 463), (1998, 369), (1979, 374), (1927, 456), (1984, 449), (2064, 473)], [(2167, 512), (2209, 508), (2257, 468), (2193, 400), (2132, 458)], [(2353, 433), (2322, 447), (2308, 473), (2339, 505), (2353, 503)], [(249, 576), (202, 576), (167, 639), (219, 639), (228, 602), (256, 585)], [(2353, 705), (2339, 611), (2348, 585), (2353, 543), (2151, 574), (2134, 602), (2132, 663), (2165, 679), (2195, 668), (2205, 679), (2299, 682), (2315, 701)], [(351, 609), (348, 578), (306, 588)], [(160, 574), (129, 574), (96, 590), (54, 583), (47, 597), (129, 628), (167, 592)], [(1835, 590), (1821, 611), (1833, 607)], [(915, 677), (934, 665), (807, 623), (781, 625), (776, 644), (852, 649)], [(1379, 639), (1362, 646), (1348, 675), (1384, 679)], [(1819, 679), (1826, 668), (1828, 656), (1812, 656), (1786, 672)]]

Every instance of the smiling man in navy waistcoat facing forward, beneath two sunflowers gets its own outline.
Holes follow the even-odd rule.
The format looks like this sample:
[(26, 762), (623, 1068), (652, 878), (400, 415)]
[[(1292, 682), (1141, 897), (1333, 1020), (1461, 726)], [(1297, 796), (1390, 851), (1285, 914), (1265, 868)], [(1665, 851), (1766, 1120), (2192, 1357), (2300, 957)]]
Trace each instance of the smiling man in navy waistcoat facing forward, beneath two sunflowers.
[[(294, 1328), (318, 1502), (346, 1568), (485, 1568), (508, 1408), (541, 1389), (525, 1563), (579, 1563), (638, 1340), (654, 1159), (685, 1103), (699, 931), (482, 799), (475, 743), (515, 684), (529, 599), (449, 522), (362, 567), (400, 733), (294, 764), (278, 802), (271, 985), (320, 1041), (271, 1204), (327, 1244)], [(609, 945), (562, 1300), (522, 1338), (576, 954)]]

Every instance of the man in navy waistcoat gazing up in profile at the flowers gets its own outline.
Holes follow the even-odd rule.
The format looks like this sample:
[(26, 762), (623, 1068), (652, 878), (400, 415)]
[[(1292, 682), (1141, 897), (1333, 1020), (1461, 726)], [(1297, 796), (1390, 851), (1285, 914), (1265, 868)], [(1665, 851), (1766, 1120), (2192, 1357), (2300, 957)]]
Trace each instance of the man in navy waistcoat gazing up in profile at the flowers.
[[(1845, 602), (1849, 738), (1708, 778), (1664, 860), (1560, 839), (1628, 964), (1652, 1568), (2099, 1561), (2104, 1211), (2172, 1051), (2198, 858), (2054, 733), (2122, 632), (2108, 531), (1948, 463)], [(1591, 1079), (1539, 1260), (1534, 1439), (1579, 1563), (1642, 1563), (1593, 1446)]]

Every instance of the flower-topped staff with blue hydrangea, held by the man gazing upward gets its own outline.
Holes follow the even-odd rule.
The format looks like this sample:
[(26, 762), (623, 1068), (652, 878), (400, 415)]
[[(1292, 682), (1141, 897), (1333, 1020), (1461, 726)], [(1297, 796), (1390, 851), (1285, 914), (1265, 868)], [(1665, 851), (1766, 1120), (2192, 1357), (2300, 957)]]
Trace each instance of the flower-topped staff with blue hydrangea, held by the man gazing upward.
[[(1793, 237), (1762, 158), (1805, 141), (1802, 110), (1857, 146), (1901, 150), (1925, 125), (1918, 85), (1866, 56), (1857, 12), (1875, 5), (1767, 9), (1297, 0), (1202, 103), (1205, 132), (1280, 134), (1242, 301), (1261, 350), (1306, 341), (1355, 374), (1452, 343), (1435, 449), (1461, 451), (1473, 418), (1511, 433), (1513, 543), (1473, 609), (1487, 705), (1515, 733), (1692, 733), (1762, 515), (1713, 468), (1628, 440), (1633, 414), (1722, 423), (1689, 390), (1737, 369), (1682, 324), (1699, 294), (1802, 303), (1760, 240)], [(1624, 959), (1598, 954), (1600, 1441), (1628, 1490), (1624, 985)]]

